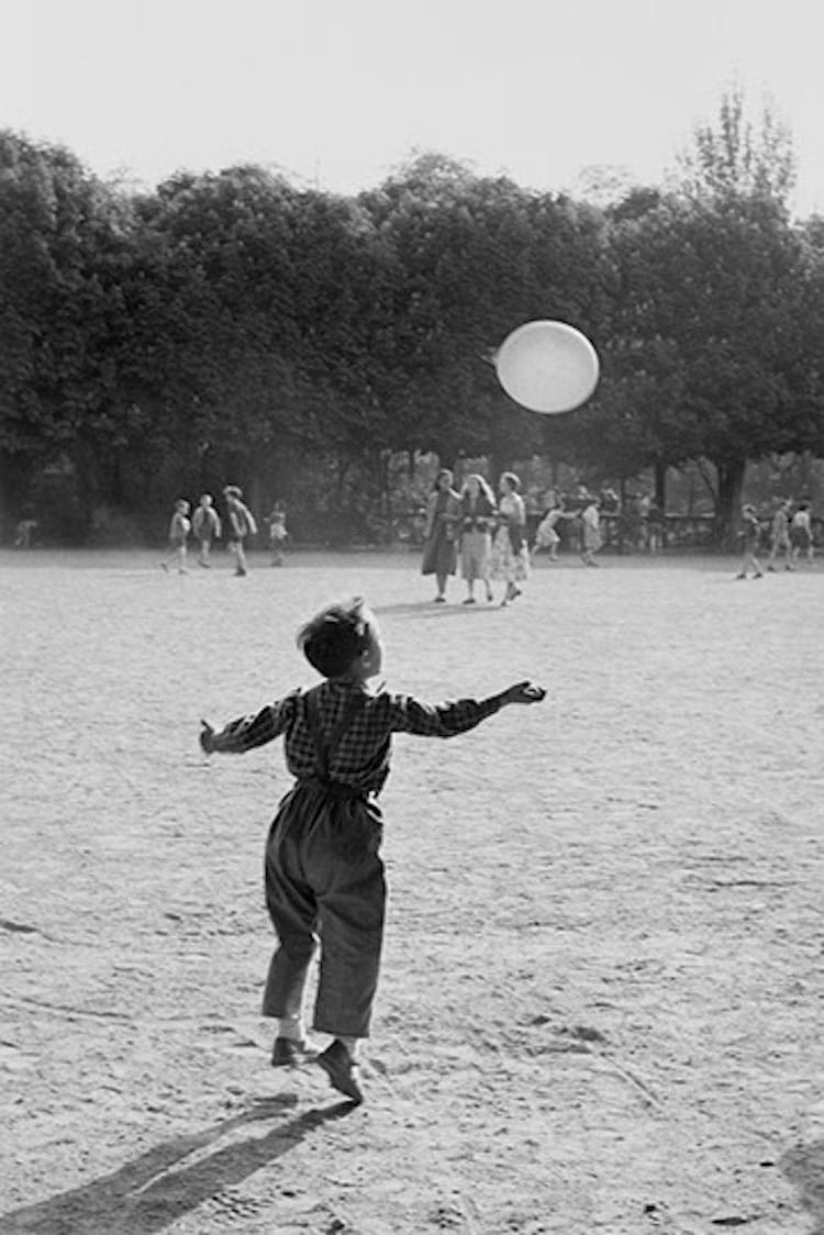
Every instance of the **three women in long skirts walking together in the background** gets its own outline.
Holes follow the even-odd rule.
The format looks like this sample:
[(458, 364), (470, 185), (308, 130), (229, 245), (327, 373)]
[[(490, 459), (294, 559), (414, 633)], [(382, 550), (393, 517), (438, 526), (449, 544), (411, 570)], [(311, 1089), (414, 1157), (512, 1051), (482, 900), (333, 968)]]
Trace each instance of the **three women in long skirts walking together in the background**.
[(437, 473), (426, 505), (421, 563), (421, 574), (435, 576), (436, 604), (446, 601), (447, 579), (456, 573), (458, 558), (467, 585), (465, 605), (477, 604), (477, 584), (483, 585), (487, 601), (492, 603), (493, 582), (503, 583), (503, 608), (520, 597), (530, 561), (526, 508), (519, 490), (520, 480), (514, 472), (500, 477), (498, 501), (477, 473), (466, 478), (460, 493), (448, 468)]

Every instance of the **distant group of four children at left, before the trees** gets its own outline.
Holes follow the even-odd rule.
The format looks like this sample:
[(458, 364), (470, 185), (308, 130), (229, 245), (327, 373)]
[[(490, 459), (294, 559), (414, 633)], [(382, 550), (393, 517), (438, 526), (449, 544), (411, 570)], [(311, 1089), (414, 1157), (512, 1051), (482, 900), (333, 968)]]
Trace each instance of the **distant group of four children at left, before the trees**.
[[(246, 562), (246, 541), (250, 536), (257, 535), (257, 521), (250, 508), (243, 501), (243, 492), (236, 484), (227, 484), (224, 489), (226, 501), (226, 543), (235, 559), (235, 574), (245, 576), (248, 572)], [(188, 542), (189, 536), (194, 536), (198, 542), (198, 566), (209, 569), (211, 567), (211, 546), (220, 540), (224, 532), (224, 521), (215, 510), (214, 499), (210, 493), (204, 493), (198, 501), (194, 514), (189, 517), (190, 506), (185, 498), (178, 498), (169, 521), (169, 555), (163, 558), (161, 567), (168, 571), (174, 564), (179, 574), (187, 573)], [(287, 511), (282, 501), (275, 501), (272, 513), (267, 516), (269, 525), (269, 548), (272, 551), (272, 566), (283, 566), (284, 546), (289, 532), (287, 531)]]

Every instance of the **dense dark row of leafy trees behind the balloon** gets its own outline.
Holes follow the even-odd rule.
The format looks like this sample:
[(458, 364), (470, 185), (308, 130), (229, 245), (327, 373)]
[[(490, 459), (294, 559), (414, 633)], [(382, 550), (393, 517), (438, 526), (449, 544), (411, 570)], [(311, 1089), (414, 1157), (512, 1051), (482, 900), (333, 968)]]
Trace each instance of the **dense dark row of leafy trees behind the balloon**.
[[(258, 167), (128, 196), (0, 133), (2, 513), (53, 490), (65, 532), (157, 527), (231, 479), (345, 538), (434, 452), (660, 485), (709, 461), (729, 519), (747, 461), (824, 451), (824, 226), (789, 182), (735, 98), (679, 184), (605, 206), (435, 154), (353, 199)], [(532, 317), (595, 342), (586, 409), (502, 394), (489, 358)]]

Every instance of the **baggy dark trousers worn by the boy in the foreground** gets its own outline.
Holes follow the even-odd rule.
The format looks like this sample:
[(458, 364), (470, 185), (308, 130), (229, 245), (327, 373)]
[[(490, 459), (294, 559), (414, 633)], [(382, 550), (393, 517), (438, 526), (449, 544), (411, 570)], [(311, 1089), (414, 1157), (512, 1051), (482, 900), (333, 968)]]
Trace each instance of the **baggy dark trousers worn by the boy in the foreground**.
[(385, 905), (380, 840), (380, 811), (363, 795), (319, 779), (299, 782), (283, 799), (266, 848), (266, 900), (279, 945), (264, 1016), (300, 1011), (319, 935), (314, 1028), (368, 1036)]

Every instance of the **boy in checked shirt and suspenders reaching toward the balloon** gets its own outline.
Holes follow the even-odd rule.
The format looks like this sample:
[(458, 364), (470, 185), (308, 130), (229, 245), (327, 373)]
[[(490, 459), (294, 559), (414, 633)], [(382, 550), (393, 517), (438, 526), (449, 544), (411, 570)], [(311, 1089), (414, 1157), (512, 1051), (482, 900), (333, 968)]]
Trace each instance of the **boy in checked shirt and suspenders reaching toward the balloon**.
[(306, 1053), (303, 995), (316, 934), (321, 939), (314, 1028), (332, 1042), (316, 1062), (352, 1102), (357, 1044), (369, 1032), (378, 982), (385, 885), (377, 804), (389, 774), (392, 735), (455, 737), (511, 703), (539, 703), (545, 692), (519, 682), (488, 699), (436, 706), (367, 683), (380, 672), (383, 645), (358, 597), (322, 609), (298, 634), (298, 646), (324, 677), (221, 732), (203, 721), (200, 745), (241, 753), (285, 735), (296, 783), (283, 798), (266, 852), (266, 897), (278, 947), (263, 995), (277, 1018), (274, 1066)]

